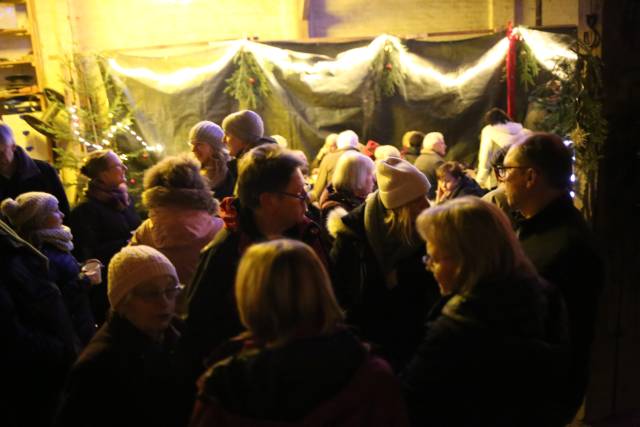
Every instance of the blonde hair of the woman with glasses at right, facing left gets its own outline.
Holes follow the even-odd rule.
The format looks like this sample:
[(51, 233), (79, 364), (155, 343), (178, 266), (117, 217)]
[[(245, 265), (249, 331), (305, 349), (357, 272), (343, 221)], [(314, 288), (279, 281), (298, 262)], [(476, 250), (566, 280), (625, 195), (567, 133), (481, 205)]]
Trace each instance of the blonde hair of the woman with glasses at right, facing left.
[(416, 226), (424, 240), (457, 260), (457, 292), (469, 292), (483, 280), (537, 276), (507, 216), (477, 197), (427, 209), (418, 216)]

